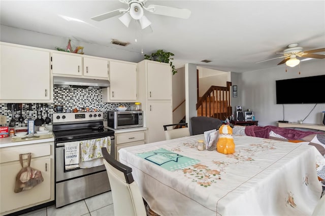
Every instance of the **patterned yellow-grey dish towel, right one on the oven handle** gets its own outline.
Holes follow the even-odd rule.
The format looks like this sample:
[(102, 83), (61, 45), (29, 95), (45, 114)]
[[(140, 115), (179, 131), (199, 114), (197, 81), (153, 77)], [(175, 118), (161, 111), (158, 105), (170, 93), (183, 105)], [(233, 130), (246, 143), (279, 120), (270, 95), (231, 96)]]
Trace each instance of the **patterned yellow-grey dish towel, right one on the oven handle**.
[(111, 137), (95, 138), (80, 141), (80, 168), (90, 168), (103, 165), (102, 147), (111, 154)]

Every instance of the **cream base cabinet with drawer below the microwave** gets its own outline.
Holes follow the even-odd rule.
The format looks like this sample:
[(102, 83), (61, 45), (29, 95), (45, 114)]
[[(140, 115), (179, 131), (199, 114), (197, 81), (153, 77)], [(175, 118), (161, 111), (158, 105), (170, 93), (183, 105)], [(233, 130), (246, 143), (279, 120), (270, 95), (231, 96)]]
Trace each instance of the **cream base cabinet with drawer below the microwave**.
[(145, 143), (145, 131), (115, 133), (115, 159), (119, 161), (118, 150)]

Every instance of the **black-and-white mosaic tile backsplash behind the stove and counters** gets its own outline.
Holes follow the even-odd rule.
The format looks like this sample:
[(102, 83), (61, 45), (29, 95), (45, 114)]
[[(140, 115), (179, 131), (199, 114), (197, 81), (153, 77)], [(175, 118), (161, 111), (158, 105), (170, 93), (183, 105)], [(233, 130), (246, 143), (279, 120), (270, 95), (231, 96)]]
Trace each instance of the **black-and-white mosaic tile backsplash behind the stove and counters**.
[[(66, 109), (80, 110), (81, 107), (89, 107), (90, 110), (97, 109), (98, 111), (104, 112), (104, 121), (107, 121), (107, 111), (113, 111), (116, 107), (123, 105), (126, 106), (128, 110), (131, 109), (131, 103), (103, 103), (103, 90), (102, 89), (82, 89), (82, 88), (64, 88), (54, 86), (53, 103), (47, 103), (48, 105), (48, 115), (49, 118), (53, 120), (53, 107), (54, 105), (63, 105), (63, 112)], [(26, 111), (27, 103), (22, 103), (22, 116), (23, 118), (37, 119), (36, 104), (31, 103), (31, 110)], [(41, 115), (43, 119), (46, 118), (45, 107), (46, 103), (39, 103), (40, 107), (44, 107), (42, 114), (39, 111), (39, 118)], [(0, 126), (9, 126), (9, 122), (16, 113), (20, 114), (19, 111), (12, 114), (11, 110), (7, 109), (7, 103), (0, 103), (0, 116), (7, 116), (7, 124), (0, 124)], [(15, 127), (26, 127), (24, 123), (16, 122)]]

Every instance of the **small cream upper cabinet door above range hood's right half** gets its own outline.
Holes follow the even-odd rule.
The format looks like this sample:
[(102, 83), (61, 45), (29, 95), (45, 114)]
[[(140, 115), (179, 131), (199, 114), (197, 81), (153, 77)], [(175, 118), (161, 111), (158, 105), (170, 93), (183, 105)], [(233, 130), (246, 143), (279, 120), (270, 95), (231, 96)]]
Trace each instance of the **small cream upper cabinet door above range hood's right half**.
[(83, 75), (108, 79), (108, 60), (84, 57)]

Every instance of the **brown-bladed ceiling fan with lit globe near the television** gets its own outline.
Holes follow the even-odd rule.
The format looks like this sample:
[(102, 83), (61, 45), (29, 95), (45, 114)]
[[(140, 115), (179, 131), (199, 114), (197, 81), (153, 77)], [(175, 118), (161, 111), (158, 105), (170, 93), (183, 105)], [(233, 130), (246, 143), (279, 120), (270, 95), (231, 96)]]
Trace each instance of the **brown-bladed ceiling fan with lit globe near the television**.
[(318, 59), (325, 58), (325, 54), (314, 54), (314, 53), (319, 53), (319, 52), (325, 52), (325, 48), (303, 51), (303, 48), (298, 47), (298, 44), (289, 44), (287, 46), (287, 49), (283, 50), (282, 53), (277, 53), (277, 54), (283, 54), (283, 56), (271, 58), (271, 59), (267, 59), (267, 60), (263, 60), (263, 61), (258, 61), (256, 63), (269, 61), (269, 60), (273, 60), (273, 59), (277, 59), (277, 58), (284, 58), (282, 61), (280, 61), (280, 63), (278, 63), (278, 65), (285, 63), (287, 66), (294, 67), (300, 63), (300, 60), (297, 59), (297, 57), (318, 58)]

